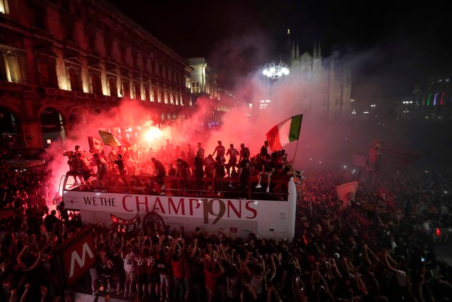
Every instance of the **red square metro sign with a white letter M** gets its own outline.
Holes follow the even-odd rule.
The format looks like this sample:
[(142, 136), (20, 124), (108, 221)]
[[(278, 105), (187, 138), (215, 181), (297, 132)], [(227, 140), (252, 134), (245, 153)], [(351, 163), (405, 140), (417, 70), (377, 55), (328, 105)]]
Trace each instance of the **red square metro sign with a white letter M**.
[(96, 262), (92, 228), (79, 231), (58, 248), (57, 267), (66, 285), (71, 285)]

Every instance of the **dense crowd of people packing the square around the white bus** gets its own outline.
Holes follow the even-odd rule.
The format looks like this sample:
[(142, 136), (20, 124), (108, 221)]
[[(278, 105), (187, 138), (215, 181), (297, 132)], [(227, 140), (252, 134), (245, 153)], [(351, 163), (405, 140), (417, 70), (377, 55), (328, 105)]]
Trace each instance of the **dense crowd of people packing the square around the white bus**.
[[(212, 156), (225, 161), (221, 156), (227, 153), (215, 151)], [(259, 157), (268, 158), (263, 152)], [(249, 151), (237, 153), (249, 158)], [(69, 289), (59, 286), (52, 269), (52, 251), (81, 226), (61, 215), (61, 207), (59, 213), (49, 211), (61, 200), (49, 192), (45, 169), (16, 171), (2, 154), (0, 301), (69, 301)], [(196, 164), (192, 170), (191, 161), (180, 159), (188, 165), (182, 167), (186, 173), (196, 175)], [(165, 174), (170, 164), (161, 162)], [(258, 166), (258, 184), (266, 184), (266, 165)], [(165, 176), (162, 167), (155, 164), (157, 176)], [(204, 178), (206, 170), (203, 163)], [(381, 169), (373, 181), (360, 178), (354, 203), (379, 203), (384, 187), (396, 206), (367, 215), (338, 199), (335, 187), (343, 181), (335, 170), (297, 178), (296, 236), (289, 240), (253, 233), (233, 238), (222, 228), (117, 233), (113, 225), (93, 225), (97, 262), (72, 290), (174, 302), (448, 301), (452, 270), (436, 254), (451, 243), (450, 175)]]

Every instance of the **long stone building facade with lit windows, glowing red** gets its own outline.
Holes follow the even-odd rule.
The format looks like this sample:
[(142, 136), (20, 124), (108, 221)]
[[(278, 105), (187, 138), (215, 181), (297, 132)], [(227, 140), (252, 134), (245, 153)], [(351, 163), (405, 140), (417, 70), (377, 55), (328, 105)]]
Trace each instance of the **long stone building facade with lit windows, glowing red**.
[(0, 0), (1, 132), (27, 148), (123, 100), (153, 108), (156, 124), (184, 119), (192, 71), (107, 1)]

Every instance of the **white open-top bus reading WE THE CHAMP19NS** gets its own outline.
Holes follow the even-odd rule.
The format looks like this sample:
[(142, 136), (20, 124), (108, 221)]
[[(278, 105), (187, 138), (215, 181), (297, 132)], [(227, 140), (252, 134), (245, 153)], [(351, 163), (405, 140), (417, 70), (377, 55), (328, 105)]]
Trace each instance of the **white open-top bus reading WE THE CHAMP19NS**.
[[(143, 181), (152, 178), (145, 175), (133, 177)], [(223, 182), (226, 189), (217, 196), (214, 192), (182, 192), (177, 190), (179, 179), (167, 177), (165, 185), (171, 187), (173, 184), (173, 189), (165, 190), (163, 195), (146, 194), (133, 190), (133, 187), (132, 193), (126, 193), (124, 187), (116, 185), (102, 192), (83, 190), (73, 184), (72, 176), (64, 175), (61, 190), (66, 209), (79, 211), (82, 224), (98, 223), (108, 227), (117, 223), (122, 227), (120, 231), (125, 232), (139, 224), (145, 230), (148, 223), (160, 221), (166, 228), (186, 232), (199, 227), (201, 231), (222, 228), (232, 237), (255, 233), (260, 238), (277, 236), (291, 240), (295, 236), (297, 190), (294, 178), (272, 176), (270, 193), (254, 189), (256, 179), (253, 177), (248, 185), (251, 190), (247, 192), (237, 191), (238, 180), (225, 178)]]

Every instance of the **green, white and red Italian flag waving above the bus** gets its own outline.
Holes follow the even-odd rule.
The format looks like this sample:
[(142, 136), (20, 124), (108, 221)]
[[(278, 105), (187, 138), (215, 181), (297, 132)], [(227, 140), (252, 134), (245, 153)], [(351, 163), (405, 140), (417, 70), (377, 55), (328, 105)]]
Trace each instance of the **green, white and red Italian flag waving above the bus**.
[(266, 137), (271, 151), (283, 149), (291, 141), (297, 141), (302, 128), (303, 115), (294, 115), (268, 130)]

